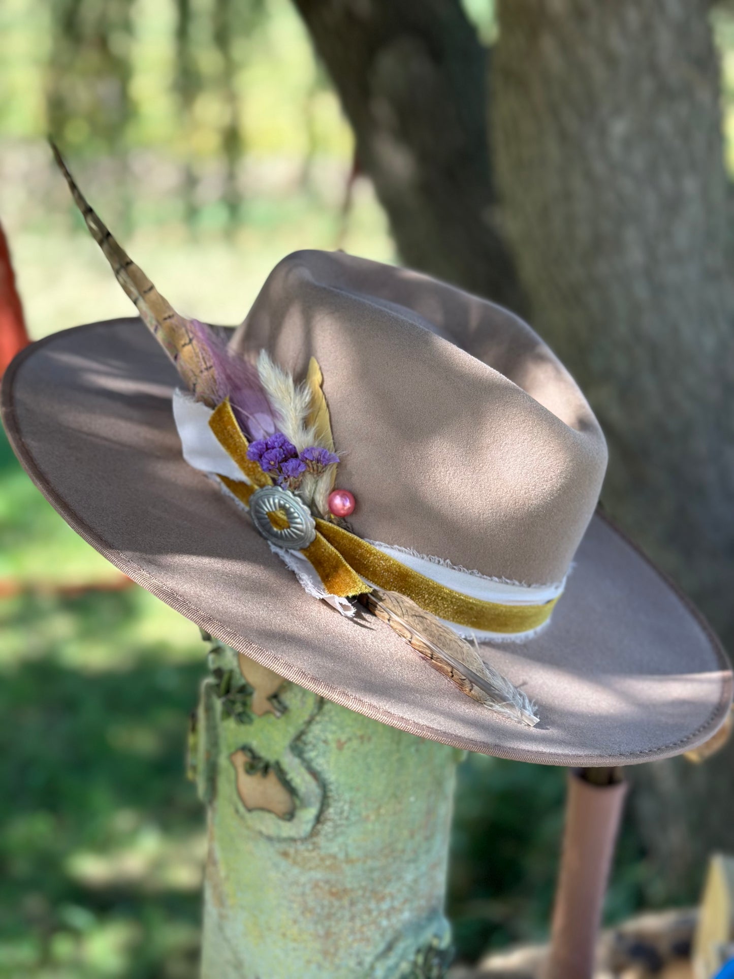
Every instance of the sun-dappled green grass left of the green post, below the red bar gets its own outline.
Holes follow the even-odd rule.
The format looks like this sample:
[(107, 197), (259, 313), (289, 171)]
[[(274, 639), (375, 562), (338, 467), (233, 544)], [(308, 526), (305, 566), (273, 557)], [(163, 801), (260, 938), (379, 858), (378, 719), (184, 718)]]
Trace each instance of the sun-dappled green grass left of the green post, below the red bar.
[(197, 629), (137, 587), (6, 600), (0, 628), (0, 977), (193, 979)]

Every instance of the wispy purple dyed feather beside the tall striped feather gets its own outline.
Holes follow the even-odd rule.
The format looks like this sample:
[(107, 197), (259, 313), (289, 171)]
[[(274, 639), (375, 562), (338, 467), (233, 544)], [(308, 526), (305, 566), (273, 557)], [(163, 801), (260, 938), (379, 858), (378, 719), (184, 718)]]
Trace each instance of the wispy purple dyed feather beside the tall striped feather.
[(217, 401), (229, 398), (235, 418), (249, 439), (267, 439), (275, 432), (275, 418), (257, 368), (244, 357), (233, 355), (218, 330), (198, 319), (192, 319), (190, 326), (211, 359)]

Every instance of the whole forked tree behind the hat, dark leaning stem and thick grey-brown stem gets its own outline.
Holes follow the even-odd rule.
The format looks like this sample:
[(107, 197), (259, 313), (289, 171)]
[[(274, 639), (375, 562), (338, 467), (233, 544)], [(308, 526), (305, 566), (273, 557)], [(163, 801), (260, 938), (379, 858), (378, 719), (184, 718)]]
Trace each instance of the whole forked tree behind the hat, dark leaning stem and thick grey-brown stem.
[[(734, 648), (732, 222), (709, 0), (499, 0), (489, 138), (458, 3), (295, 2), (402, 258), (522, 309), (502, 281), (507, 228), (531, 322), (607, 434), (606, 505)], [(651, 899), (691, 899), (708, 852), (734, 850), (733, 761), (731, 744), (698, 769), (632, 769)]]

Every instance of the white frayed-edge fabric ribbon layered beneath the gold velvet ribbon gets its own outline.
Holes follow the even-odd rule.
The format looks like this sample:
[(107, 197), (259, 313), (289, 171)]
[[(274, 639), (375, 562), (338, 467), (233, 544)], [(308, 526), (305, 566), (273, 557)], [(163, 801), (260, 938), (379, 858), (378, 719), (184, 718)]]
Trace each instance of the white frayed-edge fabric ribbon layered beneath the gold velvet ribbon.
[[(181, 439), (183, 457), (194, 469), (199, 469), (207, 476), (214, 479), (220, 489), (227, 496), (235, 500), (237, 505), (245, 510), (243, 504), (224, 486), (218, 476), (226, 476), (238, 482), (247, 482), (242, 471), (234, 460), (217, 442), (213, 432), (209, 428), (208, 421), (212, 411), (188, 393), (182, 391), (173, 392), (173, 419)], [(247, 512), (247, 511), (246, 511)], [(400, 561), (413, 571), (425, 575), (426, 578), (437, 584), (445, 585), (454, 591), (472, 598), (479, 598), (485, 602), (496, 602), (502, 605), (542, 605), (545, 602), (558, 598), (564, 590), (566, 580), (552, 584), (521, 584), (508, 582), (503, 579), (489, 578), (482, 575), (479, 571), (469, 571), (460, 568), (451, 562), (430, 555), (419, 554), (410, 548), (400, 547), (395, 544), (383, 543), (379, 540), (370, 540), (383, 553), (395, 560)], [(343, 615), (351, 616), (354, 608), (346, 598), (331, 595), (324, 590), (324, 586), (307, 558), (303, 557), (298, 551), (285, 550), (270, 544), (270, 549), (284, 562), (284, 564), (294, 572), (298, 582), (303, 589), (315, 598), (322, 598), (336, 608)], [(369, 582), (368, 582), (369, 583)], [(523, 642), (531, 638), (538, 632), (545, 629), (548, 623), (544, 623), (539, 629), (531, 629), (526, 632), (486, 632), (478, 629), (467, 629), (457, 623), (446, 622), (459, 635), (464, 637), (476, 638), (478, 641), (486, 642)], [(550, 621), (550, 620), (548, 620)]]

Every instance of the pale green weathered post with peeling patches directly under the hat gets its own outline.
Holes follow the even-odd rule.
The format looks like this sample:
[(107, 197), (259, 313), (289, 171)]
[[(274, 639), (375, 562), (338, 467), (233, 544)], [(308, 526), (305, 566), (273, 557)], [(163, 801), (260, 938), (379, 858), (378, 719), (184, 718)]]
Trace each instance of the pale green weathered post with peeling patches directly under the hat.
[(189, 745), (208, 826), (203, 979), (439, 979), (462, 753), (205, 638)]

